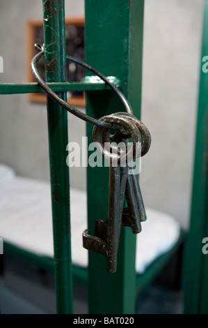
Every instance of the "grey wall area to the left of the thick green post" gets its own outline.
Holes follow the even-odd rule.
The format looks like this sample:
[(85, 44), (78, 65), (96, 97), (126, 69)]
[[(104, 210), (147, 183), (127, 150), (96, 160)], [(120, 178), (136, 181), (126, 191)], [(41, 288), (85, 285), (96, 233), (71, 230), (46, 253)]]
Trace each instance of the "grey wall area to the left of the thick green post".
[[(65, 15), (84, 15), (84, 1), (65, 1)], [(25, 22), (36, 18), (42, 18), (42, 1), (0, 0), (0, 82), (26, 82)], [(84, 122), (70, 115), (69, 131), (70, 140), (81, 140)], [(49, 180), (46, 105), (30, 103), (26, 95), (0, 95), (0, 162), (25, 177)], [(73, 168), (70, 181), (86, 188), (85, 170)]]

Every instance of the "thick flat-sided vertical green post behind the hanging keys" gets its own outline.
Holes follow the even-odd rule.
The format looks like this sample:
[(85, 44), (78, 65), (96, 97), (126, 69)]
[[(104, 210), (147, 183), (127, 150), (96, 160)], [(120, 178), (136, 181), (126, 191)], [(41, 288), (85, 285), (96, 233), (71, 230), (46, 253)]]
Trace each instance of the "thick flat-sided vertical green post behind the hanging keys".
[[(85, 56), (88, 64), (104, 75), (118, 77), (134, 114), (141, 114), (141, 67), (143, 45), (143, 0), (86, 0)], [(97, 119), (124, 111), (111, 91), (87, 93), (87, 114)], [(88, 142), (93, 126), (88, 124)], [(109, 168), (88, 167), (88, 227), (108, 212)], [(136, 235), (122, 228), (118, 269), (106, 272), (106, 259), (89, 252), (89, 312), (134, 313), (136, 296)]]

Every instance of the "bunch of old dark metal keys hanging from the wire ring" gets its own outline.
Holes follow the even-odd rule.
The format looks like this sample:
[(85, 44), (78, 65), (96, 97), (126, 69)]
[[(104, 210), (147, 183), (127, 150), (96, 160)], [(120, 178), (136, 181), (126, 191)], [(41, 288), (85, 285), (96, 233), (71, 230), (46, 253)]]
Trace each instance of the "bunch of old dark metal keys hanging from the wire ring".
[[(106, 221), (95, 222), (94, 235), (83, 232), (83, 247), (106, 257), (106, 270), (116, 271), (117, 253), (122, 226), (131, 228), (134, 234), (141, 232), (141, 222), (146, 220), (145, 207), (136, 174), (129, 174), (133, 160), (144, 156), (150, 149), (150, 132), (141, 121), (131, 114), (118, 112), (99, 119), (118, 126), (115, 135), (109, 129), (93, 129), (93, 140), (99, 154), (109, 161), (109, 209)], [(128, 132), (127, 132), (128, 131)], [(131, 147), (127, 140), (131, 137)], [(116, 147), (122, 142), (123, 147)], [(113, 142), (113, 143), (112, 143)], [(105, 147), (109, 144), (110, 147)], [(127, 208), (124, 208), (125, 199)]]

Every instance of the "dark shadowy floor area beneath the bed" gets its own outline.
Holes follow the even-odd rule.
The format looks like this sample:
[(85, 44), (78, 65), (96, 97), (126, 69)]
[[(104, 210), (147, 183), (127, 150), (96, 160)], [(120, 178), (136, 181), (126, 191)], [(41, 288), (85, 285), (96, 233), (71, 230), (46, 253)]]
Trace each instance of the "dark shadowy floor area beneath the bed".
[[(136, 313), (180, 314), (182, 292), (155, 281), (136, 302)], [(0, 277), (2, 314), (56, 313), (54, 276), (45, 271), (8, 258)], [(88, 313), (86, 288), (74, 284), (74, 313)]]

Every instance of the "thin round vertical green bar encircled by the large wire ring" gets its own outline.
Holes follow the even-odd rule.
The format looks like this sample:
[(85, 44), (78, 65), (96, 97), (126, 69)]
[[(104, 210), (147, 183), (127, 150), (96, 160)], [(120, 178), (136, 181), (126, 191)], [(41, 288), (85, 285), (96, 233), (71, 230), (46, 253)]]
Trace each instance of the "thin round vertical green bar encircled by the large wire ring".
[[(43, 0), (47, 82), (65, 82), (65, 2)], [(59, 96), (66, 98), (65, 93)], [(67, 112), (47, 97), (57, 313), (72, 313)]]

